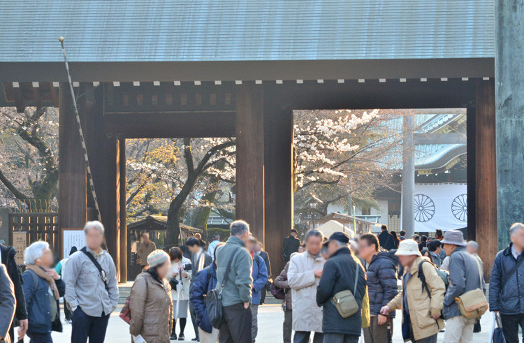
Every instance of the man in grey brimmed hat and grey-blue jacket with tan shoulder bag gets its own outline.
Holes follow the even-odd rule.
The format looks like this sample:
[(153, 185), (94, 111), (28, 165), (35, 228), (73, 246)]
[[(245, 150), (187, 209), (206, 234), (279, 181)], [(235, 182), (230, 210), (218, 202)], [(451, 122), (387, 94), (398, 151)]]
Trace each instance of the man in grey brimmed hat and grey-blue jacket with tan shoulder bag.
[(479, 263), (466, 251), (462, 232), (446, 231), (441, 242), (449, 256), (449, 287), (444, 295), (442, 314), (446, 319), (446, 343), (472, 343), (475, 318), (465, 318), (460, 314), (455, 298), (467, 291), (484, 289)]

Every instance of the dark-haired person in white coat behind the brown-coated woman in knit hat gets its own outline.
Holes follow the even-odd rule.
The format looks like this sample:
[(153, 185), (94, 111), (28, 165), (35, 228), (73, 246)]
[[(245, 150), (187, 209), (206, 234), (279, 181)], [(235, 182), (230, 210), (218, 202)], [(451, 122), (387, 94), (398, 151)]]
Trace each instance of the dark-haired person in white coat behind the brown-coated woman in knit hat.
[[(173, 318), (173, 331), (171, 332), (171, 340), (177, 340), (176, 326), (177, 319), (180, 319), (180, 334), (178, 340), (183, 341), (184, 328), (187, 323), (187, 307), (189, 304), (189, 284), (191, 283), (191, 270), (187, 267), (191, 265), (189, 258), (185, 258), (182, 249), (173, 247), (169, 251), (171, 260), (170, 277), (175, 279), (177, 285), (171, 289), (171, 298), (173, 298), (173, 309), (175, 311)], [(179, 294), (180, 293), (180, 294)]]

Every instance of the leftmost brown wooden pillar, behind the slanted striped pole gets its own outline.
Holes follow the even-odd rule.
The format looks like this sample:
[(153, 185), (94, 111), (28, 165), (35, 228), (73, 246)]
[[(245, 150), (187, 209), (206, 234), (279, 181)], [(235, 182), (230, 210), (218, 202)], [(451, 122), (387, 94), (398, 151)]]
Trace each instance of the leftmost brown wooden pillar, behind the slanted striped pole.
[[(79, 99), (80, 117), (85, 117), (85, 98)], [(82, 143), (68, 83), (60, 84), (59, 95), (59, 228), (83, 228), (86, 220), (86, 168)], [(57, 237), (61, 247), (61, 234)]]

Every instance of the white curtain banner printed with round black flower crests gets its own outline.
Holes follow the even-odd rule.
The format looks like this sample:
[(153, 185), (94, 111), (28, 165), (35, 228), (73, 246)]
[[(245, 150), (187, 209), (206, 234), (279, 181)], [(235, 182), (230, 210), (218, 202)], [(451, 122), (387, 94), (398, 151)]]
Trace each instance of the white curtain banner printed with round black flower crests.
[(415, 184), (415, 231), (448, 231), (466, 226), (466, 184)]

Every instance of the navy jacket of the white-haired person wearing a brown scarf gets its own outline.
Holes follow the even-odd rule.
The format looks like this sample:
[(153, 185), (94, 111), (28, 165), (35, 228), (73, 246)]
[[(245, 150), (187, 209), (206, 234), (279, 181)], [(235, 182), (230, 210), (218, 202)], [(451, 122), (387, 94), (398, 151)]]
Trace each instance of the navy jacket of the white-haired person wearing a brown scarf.
[[(34, 272), (27, 270), (22, 274), (24, 278), (24, 295), (27, 305), (27, 321), (29, 321), (28, 333), (51, 333), (51, 331), (62, 332), (62, 324), (60, 322), (60, 311), (57, 319), (51, 322), (49, 305), (49, 284), (45, 279), (36, 276), (38, 282), (34, 282)], [(61, 280), (56, 280), (58, 293), (62, 297), (66, 293), (66, 284)], [(57, 308), (60, 309), (58, 299)]]

